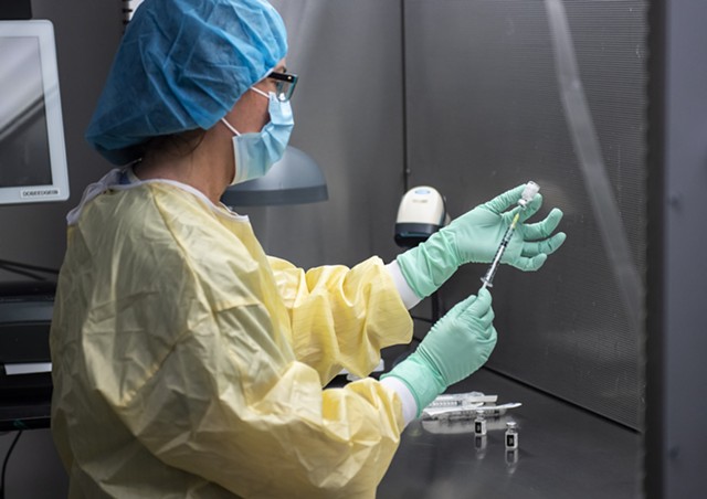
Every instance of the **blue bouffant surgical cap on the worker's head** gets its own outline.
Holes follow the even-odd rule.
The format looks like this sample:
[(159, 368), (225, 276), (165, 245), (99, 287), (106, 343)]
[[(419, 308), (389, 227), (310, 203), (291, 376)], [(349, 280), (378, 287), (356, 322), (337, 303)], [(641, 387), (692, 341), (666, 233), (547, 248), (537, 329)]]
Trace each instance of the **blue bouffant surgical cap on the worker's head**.
[(146, 0), (124, 34), (86, 139), (106, 159), (147, 140), (211, 128), (287, 53), (264, 0)]

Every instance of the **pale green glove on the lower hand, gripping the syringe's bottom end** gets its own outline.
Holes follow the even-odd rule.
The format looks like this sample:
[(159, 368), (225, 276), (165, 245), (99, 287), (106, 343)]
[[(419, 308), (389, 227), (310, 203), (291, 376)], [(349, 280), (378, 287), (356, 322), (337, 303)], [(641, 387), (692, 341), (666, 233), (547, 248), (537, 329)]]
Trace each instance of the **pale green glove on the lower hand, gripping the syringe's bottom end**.
[(492, 297), (486, 288), (478, 297), (460, 301), (428, 332), (418, 349), (381, 378), (394, 376), (418, 403), (418, 416), (446, 387), (478, 368), (496, 346)]

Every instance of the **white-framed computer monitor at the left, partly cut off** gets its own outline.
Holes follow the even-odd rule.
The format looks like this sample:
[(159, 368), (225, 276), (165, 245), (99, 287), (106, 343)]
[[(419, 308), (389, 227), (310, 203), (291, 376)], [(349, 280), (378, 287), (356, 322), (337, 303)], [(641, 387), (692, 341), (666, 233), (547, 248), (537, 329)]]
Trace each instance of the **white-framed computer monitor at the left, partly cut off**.
[(53, 25), (0, 21), (0, 204), (67, 198)]

